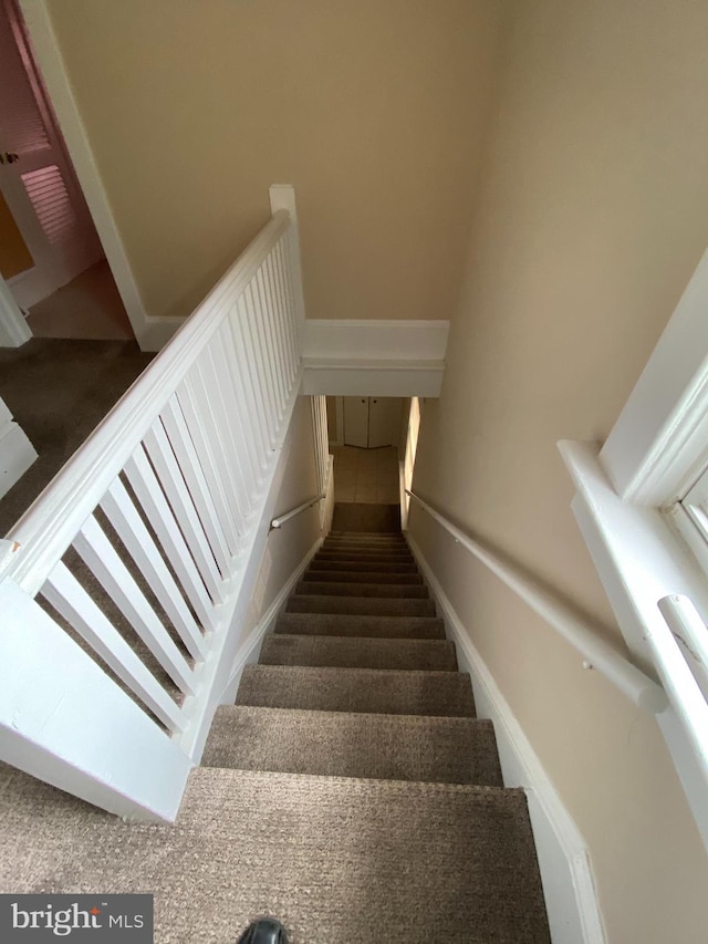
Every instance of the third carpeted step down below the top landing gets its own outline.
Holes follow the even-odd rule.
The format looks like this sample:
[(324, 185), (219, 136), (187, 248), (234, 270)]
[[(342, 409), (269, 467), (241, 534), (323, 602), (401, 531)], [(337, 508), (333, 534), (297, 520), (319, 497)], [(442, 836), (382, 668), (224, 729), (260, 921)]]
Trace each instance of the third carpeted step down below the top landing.
[(455, 643), (449, 640), (385, 640), (273, 633), (263, 640), (258, 661), (261, 665), (457, 672)]

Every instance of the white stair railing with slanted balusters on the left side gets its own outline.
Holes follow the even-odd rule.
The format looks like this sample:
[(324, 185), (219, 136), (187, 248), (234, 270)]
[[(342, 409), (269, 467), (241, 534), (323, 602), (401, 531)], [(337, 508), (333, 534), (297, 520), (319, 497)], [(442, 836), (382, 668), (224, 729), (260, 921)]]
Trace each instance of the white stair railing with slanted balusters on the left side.
[(231, 667), (302, 318), (281, 209), (8, 536), (0, 758), (174, 817)]

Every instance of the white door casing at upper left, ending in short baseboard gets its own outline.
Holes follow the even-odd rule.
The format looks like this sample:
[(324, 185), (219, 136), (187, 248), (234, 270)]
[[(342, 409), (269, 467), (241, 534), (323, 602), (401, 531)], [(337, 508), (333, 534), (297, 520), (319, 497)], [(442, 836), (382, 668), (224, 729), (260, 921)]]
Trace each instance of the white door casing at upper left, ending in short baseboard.
[(162, 322), (163, 319), (148, 319), (145, 311), (64, 68), (46, 0), (20, 0), (20, 7), (32, 40), (37, 64), (42, 73), (76, 177), (131, 320), (131, 325), (143, 350), (157, 350), (156, 346), (152, 346), (156, 343), (154, 336), (163, 338), (169, 332), (170, 328), (174, 331), (174, 322), (179, 321), (179, 319), (165, 319), (165, 324), (160, 324), (157, 332), (156, 326), (150, 323), (152, 321)]

